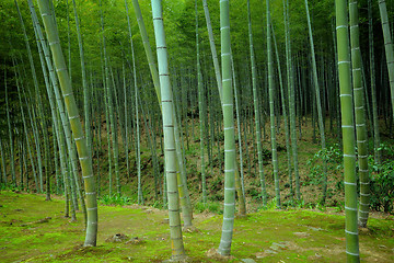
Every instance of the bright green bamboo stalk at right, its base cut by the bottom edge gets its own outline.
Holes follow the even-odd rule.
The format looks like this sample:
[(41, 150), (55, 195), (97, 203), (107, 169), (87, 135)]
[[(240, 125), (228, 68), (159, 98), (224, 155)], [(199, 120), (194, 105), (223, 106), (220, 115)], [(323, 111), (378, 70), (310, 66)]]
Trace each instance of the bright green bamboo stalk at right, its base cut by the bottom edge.
[(354, 103), (350, 81), (347, 1), (336, 0), (335, 11), (344, 146), (346, 254), (347, 262), (360, 262), (357, 227), (355, 121), (352, 114)]

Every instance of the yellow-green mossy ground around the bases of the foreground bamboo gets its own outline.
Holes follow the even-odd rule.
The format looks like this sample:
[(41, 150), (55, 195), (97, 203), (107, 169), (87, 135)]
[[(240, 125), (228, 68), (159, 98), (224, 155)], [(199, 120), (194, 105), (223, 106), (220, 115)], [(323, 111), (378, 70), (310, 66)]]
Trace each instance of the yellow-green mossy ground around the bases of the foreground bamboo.
[[(0, 192), (0, 262), (162, 262), (171, 255), (167, 213), (100, 206), (97, 247), (83, 248), (84, 224), (63, 217), (65, 202)], [(345, 218), (337, 208), (260, 210), (235, 219), (232, 256), (220, 259), (222, 216), (195, 214), (184, 231), (188, 262), (346, 262)], [(394, 262), (394, 217), (372, 214), (360, 229), (362, 262)]]

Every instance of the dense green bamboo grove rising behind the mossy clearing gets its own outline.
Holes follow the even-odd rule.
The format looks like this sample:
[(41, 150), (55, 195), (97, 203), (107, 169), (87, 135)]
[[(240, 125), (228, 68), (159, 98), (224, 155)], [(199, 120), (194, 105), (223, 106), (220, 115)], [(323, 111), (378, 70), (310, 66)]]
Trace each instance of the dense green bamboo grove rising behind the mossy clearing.
[[(305, 169), (299, 168), (303, 161), (300, 157), (299, 162), (299, 153), (302, 156), (305, 148), (300, 148), (298, 141), (312, 137), (322, 155), (333, 152), (329, 149), (338, 144), (345, 159), (351, 160), (345, 160), (345, 184), (341, 182), (340, 191), (334, 192), (336, 181), (329, 158), (323, 159), (322, 173), (313, 188), (318, 194), (308, 202), (336, 205), (344, 199), (347, 187), (355, 185), (354, 201), (345, 199), (345, 207), (355, 211), (357, 218), (356, 192), (361, 188), (359, 217), (367, 224), (370, 201), (366, 197), (369, 188), (363, 185), (369, 182), (364, 172), (369, 170), (368, 155), (382, 163), (384, 144), (381, 145), (380, 136), (393, 137), (390, 83), (394, 78), (394, 58), (387, 46), (394, 21), (392, 1), (384, 2), (384, 7), (378, 1), (350, 1), (349, 10), (345, 4), (343, 9), (346, 15), (350, 11), (352, 23), (349, 38), (339, 36), (344, 34), (338, 24), (344, 1), (232, 0), (228, 2), (231, 34), (227, 36), (231, 46), (221, 42), (225, 37), (221, 28), (229, 25), (220, 13), (227, 9), (219, 1), (143, 0), (139, 1), (139, 11), (136, 2), (54, 0), (38, 1), (39, 8), (31, 0), (0, 3), (2, 185), (45, 192), (48, 199), (50, 193), (65, 194), (65, 214), (74, 218), (81, 206), (88, 215), (91, 213), (86, 221), (90, 227), (94, 224), (89, 218), (94, 217), (96, 209), (93, 194), (99, 198), (127, 196), (138, 204), (169, 204), (170, 210), (182, 206), (184, 214), (189, 215), (183, 218), (185, 225), (192, 225), (188, 196), (195, 205), (224, 199), (224, 218), (233, 216), (235, 207), (230, 205), (234, 204), (235, 192), (236, 209), (241, 213), (246, 210), (245, 203), (267, 206), (271, 202), (281, 207), (306, 199)], [(159, 3), (162, 7), (154, 10)], [(352, 9), (356, 4), (358, 13)], [(139, 12), (144, 25), (137, 20)], [(50, 13), (56, 20), (43, 15), (43, 13)], [(153, 14), (163, 15), (167, 55), (161, 55), (162, 46), (158, 52), (154, 48), (163, 43), (163, 36), (155, 35), (161, 25), (153, 26)], [(344, 21), (347, 26), (347, 16)], [(51, 31), (57, 31), (58, 36), (50, 36)], [(340, 44), (339, 38), (349, 42)], [(341, 49), (346, 46), (351, 52)], [(56, 59), (58, 50), (65, 58), (60, 66)], [(225, 54), (231, 56), (224, 58)], [(158, 59), (159, 71), (152, 66), (157, 55), (162, 56)], [(350, 62), (350, 55), (348, 68), (337, 67)], [(163, 57), (167, 57), (166, 66), (162, 66)], [(59, 75), (59, 67), (68, 72), (63, 78), (69, 82), (69, 91), (63, 90), (62, 83), (61, 92), (56, 87), (55, 72)], [(348, 81), (354, 81), (354, 94), (350, 87), (343, 89), (341, 70)], [(159, 76), (160, 85), (171, 85), (159, 87)], [(230, 85), (224, 85), (223, 80)], [(71, 91), (74, 102), (63, 102), (65, 94)], [(344, 102), (347, 95), (351, 100)], [(158, 99), (173, 103), (164, 106)], [(68, 103), (76, 104), (70, 106), (74, 115), (70, 115)], [(229, 104), (231, 112), (224, 107)], [(344, 105), (349, 106), (346, 114), (350, 118), (344, 115)], [(358, 113), (361, 107), (364, 110)], [(165, 111), (175, 114), (165, 115)], [(362, 125), (364, 129), (359, 128)], [(175, 133), (165, 132), (169, 126)], [(344, 129), (349, 126), (350, 132)], [(174, 152), (166, 152), (166, 135), (176, 133), (174, 145), (169, 146)], [(82, 134), (85, 142), (78, 145)], [(357, 138), (350, 138), (355, 134)], [(343, 140), (343, 135), (350, 137)], [(346, 172), (349, 169), (356, 173), (356, 140), (367, 141), (357, 145), (361, 180), (357, 187), (356, 174), (349, 178)], [(230, 151), (235, 155), (228, 155)], [(167, 157), (170, 153), (176, 158)], [(166, 164), (177, 159), (172, 165), (182, 187), (170, 185), (174, 181), (169, 175), (165, 180), (164, 156)], [(79, 163), (81, 159), (84, 164)], [(89, 181), (91, 175), (94, 180), (92, 176)], [(166, 187), (175, 192), (178, 188), (181, 204), (177, 197), (167, 195)], [(227, 194), (227, 190), (232, 192)], [(181, 219), (170, 220), (176, 225)], [(227, 226), (225, 220), (223, 235), (224, 230), (232, 231), (232, 225)], [(86, 236), (85, 243), (94, 245), (94, 227), (89, 231), (91, 237)], [(347, 228), (347, 233), (355, 231)], [(231, 245), (231, 235), (224, 236), (219, 247), (222, 254), (230, 253), (225, 243)], [(349, 251), (356, 254), (358, 248)], [(178, 254), (183, 252), (173, 251), (173, 255)]]

